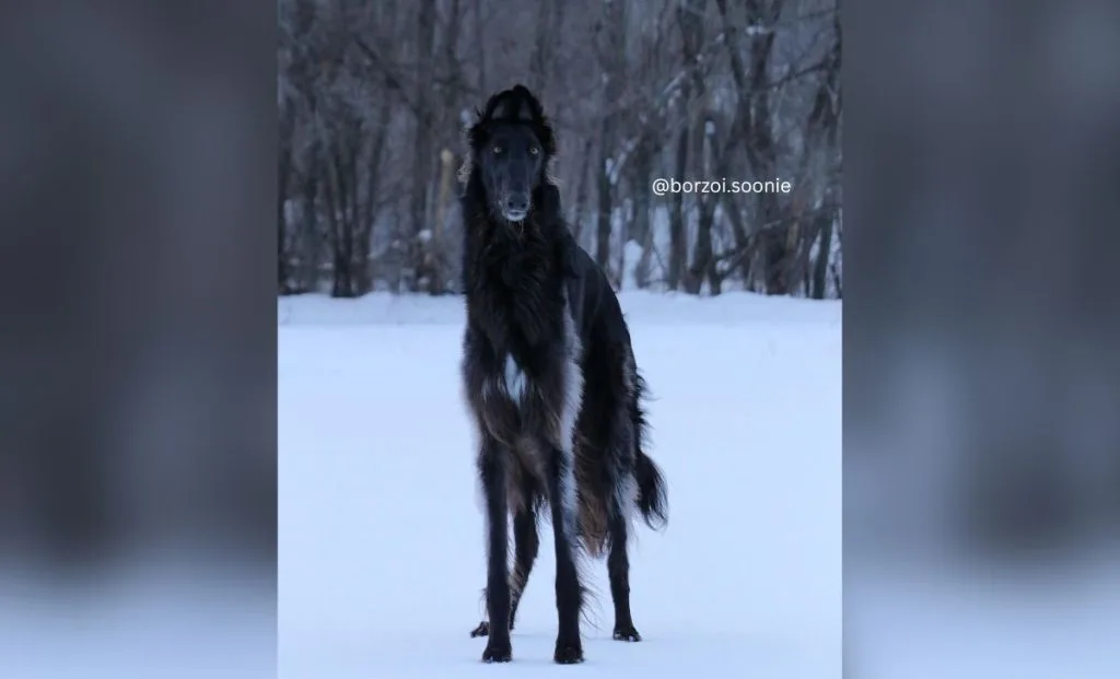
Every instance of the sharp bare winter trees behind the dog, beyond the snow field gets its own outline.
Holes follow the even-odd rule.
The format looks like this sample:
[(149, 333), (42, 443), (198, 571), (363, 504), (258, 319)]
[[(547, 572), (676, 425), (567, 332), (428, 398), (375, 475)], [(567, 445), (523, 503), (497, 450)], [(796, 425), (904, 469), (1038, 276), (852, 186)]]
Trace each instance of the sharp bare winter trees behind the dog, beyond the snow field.
[[(616, 287), (842, 297), (837, 6), (279, 0), (279, 292), (456, 292), (463, 128), (522, 82)], [(792, 190), (656, 196), (659, 177)]]

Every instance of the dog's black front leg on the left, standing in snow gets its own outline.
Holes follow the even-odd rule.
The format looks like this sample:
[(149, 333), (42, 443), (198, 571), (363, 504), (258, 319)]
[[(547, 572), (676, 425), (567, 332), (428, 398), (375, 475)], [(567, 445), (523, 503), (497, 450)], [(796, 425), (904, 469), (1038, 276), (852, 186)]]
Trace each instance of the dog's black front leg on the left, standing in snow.
[(483, 494), (486, 499), (486, 611), (489, 635), (484, 662), (510, 662), (510, 579), (508, 579), (508, 499), (506, 497), (505, 465), (508, 461), (494, 437), (483, 435), (478, 456)]

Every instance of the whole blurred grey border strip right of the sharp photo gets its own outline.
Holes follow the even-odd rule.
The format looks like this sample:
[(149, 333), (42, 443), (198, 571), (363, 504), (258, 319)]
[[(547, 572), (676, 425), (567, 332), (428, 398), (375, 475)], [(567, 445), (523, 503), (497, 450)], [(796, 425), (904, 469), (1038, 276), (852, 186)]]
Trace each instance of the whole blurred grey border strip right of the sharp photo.
[(1120, 6), (842, 21), (850, 676), (1118, 676)]

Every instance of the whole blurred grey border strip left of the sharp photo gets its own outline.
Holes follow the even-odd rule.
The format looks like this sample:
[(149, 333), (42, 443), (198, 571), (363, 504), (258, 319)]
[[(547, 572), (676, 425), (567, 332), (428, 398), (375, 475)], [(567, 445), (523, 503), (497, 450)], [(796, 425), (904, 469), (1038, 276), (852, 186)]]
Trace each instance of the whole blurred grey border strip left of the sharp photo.
[[(122, 662), (164, 653), (164, 634), (161, 676), (271, 676), (276, 4), (4, 15), (0, 588), (22, 605), (0, 626), (40, 643), (0, 655), (81, 667), (77, 636), (34, 638), (64, 611), (47, 597), (75, 594), (53, 576), (100, 596), (141, 587), (128, 574), (148, 564), (164, 575), (132, 621), (147, 641)], [(181, 605), (206, 596), (222, 607), (188, 625)], [(143, 676), (105, 651), (83, 676)]]

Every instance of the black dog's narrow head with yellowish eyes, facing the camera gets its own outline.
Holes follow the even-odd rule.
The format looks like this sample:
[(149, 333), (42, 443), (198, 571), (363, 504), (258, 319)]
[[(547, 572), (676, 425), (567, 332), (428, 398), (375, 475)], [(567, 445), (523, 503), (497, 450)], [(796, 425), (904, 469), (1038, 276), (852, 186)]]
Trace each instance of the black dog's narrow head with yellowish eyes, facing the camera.
[(478, 112), (467, 140), (491, 212), (506, 222), (524, 221), (556, 156), (552, 125), (541, 102), (523, 85), (498, 92)]

